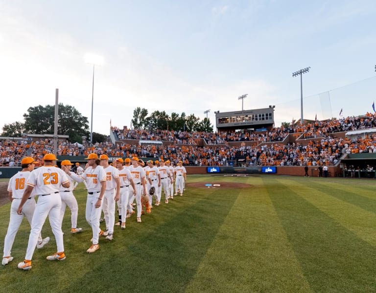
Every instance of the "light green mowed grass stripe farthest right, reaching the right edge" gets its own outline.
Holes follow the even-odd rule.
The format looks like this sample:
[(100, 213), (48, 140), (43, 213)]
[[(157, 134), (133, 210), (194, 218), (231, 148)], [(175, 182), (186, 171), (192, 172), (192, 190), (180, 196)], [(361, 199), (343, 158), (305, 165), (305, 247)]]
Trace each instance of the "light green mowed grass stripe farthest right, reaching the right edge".
[(375, 201), (353, 193), (345, 194), (345, 191), (333, 187), (326, 193), (323, 190), (328, 190), (328, 188), (322, 188), (321, 184), (311, 185), (305, 192), (300, 193), (300, 196), (338, 224), (376, 247), (375, 210), (363, 209), (367, 206), (367, 201), (370, 206), (374, 206)]

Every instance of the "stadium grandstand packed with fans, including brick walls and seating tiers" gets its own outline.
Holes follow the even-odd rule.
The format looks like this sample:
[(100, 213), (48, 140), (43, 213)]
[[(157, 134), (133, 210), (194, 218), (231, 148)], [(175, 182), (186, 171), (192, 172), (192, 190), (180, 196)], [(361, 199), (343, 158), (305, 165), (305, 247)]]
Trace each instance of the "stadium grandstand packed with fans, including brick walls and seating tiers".
[[(261, 130), (247, 125), (241, 130), (218, 129), (215, 133), (111, 127), (110, 139), (94, 145), (70, 143), (66, 136), (59, 135), (56, 155), (79, 162), (95, 152), (110, 158), (182, 160), (191, 167), (275, 166), (277, 174), (290, 175), (302, 175), (302, 171), (285, 171), (285, 167), (308, 166), (316, 176), (318, 166), (329, 166), (330, 176), (352, 177), (355, 170), (357, 177), (373, 178), (376, 170), (376, 116), (371, 113)], [(54, 152), (53, 140), (38, 135), (0, 137), (0, 151), (2, 167), (19, 167), (26, 155), (41, 164), (45, 154)]]

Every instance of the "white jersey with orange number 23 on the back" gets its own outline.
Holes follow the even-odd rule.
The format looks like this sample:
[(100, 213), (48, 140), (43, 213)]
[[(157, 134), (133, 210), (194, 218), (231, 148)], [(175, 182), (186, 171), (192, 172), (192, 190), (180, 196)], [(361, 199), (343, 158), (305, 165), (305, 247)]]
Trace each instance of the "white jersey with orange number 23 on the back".
[(30, 173), (26, 184), (34, 187), (36, 195), (59, 192), (61, 184), (69, 182), (67, 174), (54, 166), (42, 166)]

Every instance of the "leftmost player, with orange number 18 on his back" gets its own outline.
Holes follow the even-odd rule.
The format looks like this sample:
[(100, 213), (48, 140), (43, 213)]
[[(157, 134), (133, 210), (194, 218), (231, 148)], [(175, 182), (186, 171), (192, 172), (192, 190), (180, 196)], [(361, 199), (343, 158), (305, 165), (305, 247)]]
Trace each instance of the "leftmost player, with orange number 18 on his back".
[[(5, 235), (4, 240), (4, 254), (2, 257), (1, 264), (3, 266), (7, 265), (9, 262), (13, 260), (13, 256), (10, 255), (14, 239), (20, 228), (22, 220), (26, 217), (27, 221), (31, 225), (31, 220), (33, 218), (34, 210), (35, 210), (35, 193), (32, 192), (30, 198), (24, 204), (22, 215), (17, 214), (17, 208), (20, 205), (22, 196), (24, 194), (24, 190), (26, 187), (26, 181), (30, 175), (30, 172), (34, 170), (35, 161), (33, 158), (25, 157), (21, 160), (21, 168), (22, 171), (18, 172), (14, 175), (8, 183), (8, 196), (9, 200), (11, 201), (10, 206), (10, 219), (8, 225), (8, 231)], [(37, 248), (42, 248), (47, 244), (49, 241), (49, 237), (42, 239), (42, 235), (39, 234)]]

